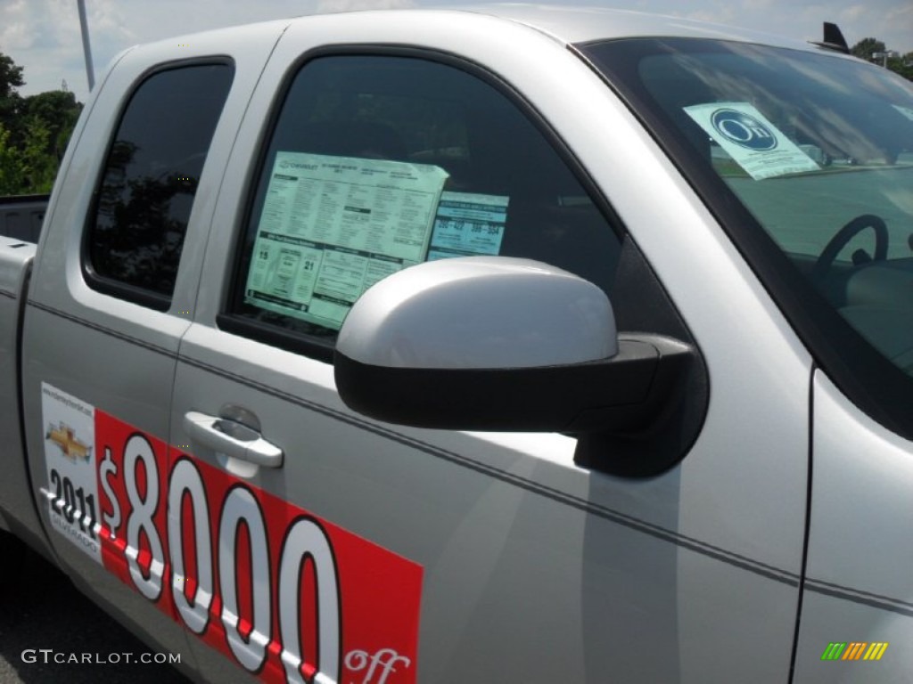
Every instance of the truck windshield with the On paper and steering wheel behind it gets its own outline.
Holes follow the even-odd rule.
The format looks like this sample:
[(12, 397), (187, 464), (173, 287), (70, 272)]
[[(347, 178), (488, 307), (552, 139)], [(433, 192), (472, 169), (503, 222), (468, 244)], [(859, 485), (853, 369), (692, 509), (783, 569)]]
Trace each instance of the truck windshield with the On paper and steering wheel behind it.
[(825, 370), (868, 396), (880, 390), (863, 385), (899, 376), (870, 412), (896, 413), (913, 433), (913, 84), (860, 60), (724, 41), (580, 49), (685, 171)]

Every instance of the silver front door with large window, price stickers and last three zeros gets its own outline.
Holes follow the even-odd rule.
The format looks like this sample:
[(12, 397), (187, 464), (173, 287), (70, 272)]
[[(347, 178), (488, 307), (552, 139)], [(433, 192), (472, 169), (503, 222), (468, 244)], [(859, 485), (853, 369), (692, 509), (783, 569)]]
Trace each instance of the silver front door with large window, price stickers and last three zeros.
[[(205, 670), (390, 684), (787, 679), (803, 347), (564, 47), (471, 16), (343, 22), (293, 25), (271, 58), (182, 341), (172, 569)], [(391, 47), (416, 34), (423, 47)], [(691, 339), (710, 387), (688, 397), (695, 439), (642, 450), (669, 460), (631, 478), (582, 465), (572, 436), (408, 429), (346, 409), (331, 352), (352, 301), (383, 275), (463, 254), (559, 265), (609, 293), (620, 329)], [(660, 310), (666, 323), (649, 314)], [(723, 339), (719, 311), (751, 325)]]

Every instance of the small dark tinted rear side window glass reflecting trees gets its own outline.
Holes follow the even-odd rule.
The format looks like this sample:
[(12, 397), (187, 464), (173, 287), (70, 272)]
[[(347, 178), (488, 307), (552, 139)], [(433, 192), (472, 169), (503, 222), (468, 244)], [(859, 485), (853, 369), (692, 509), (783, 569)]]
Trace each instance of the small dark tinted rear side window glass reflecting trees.
[[(89, 226), (96, 284), (131, 285), (170, 296), (184, 233), (231, 85), (224, 64), (160, 71), (124, 110)], [(130, 298), (130, 292), (115, 292)]]

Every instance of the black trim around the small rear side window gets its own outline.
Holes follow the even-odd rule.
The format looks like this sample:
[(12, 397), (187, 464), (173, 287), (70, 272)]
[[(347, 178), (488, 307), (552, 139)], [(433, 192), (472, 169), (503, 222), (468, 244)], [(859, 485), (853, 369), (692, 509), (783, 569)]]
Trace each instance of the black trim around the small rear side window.
[[(121, 130), (121, 124), (123, 119), (127, 114), (127, 110), (130, 108), (133, 98), (136, 96), (137, 92), (142, 88), (142, 85), (146, 83), (150, 78), (161, 74), (165, 71), (173, 71), (185, 67), (208, 67), (208, 66), (226, 66), (231, 69), (231, 79), (229, 81), (228, 90), (226, 92), (226, 99), (223, 102), (223, 111), (225, 110), (225, 105), (228, 101), (228, 98), (231, 97), (232, 88), (235, 84), (235, 60), (227, 55), (214, 55), (212, 57), (192, 57), (190, 59), (176, 59), (168, 62), (161, 62), (152, 67), (146, 68), (142, 73), (137, 76), (132, 84), (131, 88), (127, 91), (123, 98), (121, 98), (121, 109), (118, 113), (117, 120), (114, 126), (110, 130), (110, 135), (108, 137), (108, 144), (105, 146), (105, 151), (100, 157), (100, 164), (97, 171), (95, 179), (95, 187), (92, 190), (91, 201), (89, 202), (89, 209), (86, 212), (86, 215), (83, 217), (83, 231), (82, 239), (79, 244), (79, 264), (82, 270), (82, 277), (86, 285), (89, 285), (89, 288), (100, 292), (102, 295), (110, 295), (122, 299), (132, 304), (138, 304), (140, 306), (145, 306), (151, 308), (155, 311), (168, 311), (171, 308), (172, 295), (162, 295), (157, 292), (152, 292), (151, 290), (146, 290), (137, 285), (131, 285), (129, 283), (116, 280), (107, 275), (101, 275), (95, 270), (95, 266), (92, 264), (91, 254), (90, 254), (90, 233), (91, 228), (94, 226), (94, 222), (98, 216), (99, 202), (101, 197), (101, 184), (104, 181), (105, 171), (108, 166), (108, 159), (110, 157), (111, 149), (114, 147), (115, 139), (117, 138), (118, 131)], [(215, 129), (213, 130), (213, 139), (215, 139), (215, 133), (218, 130), (219, 123), (221, 122), (222, 115), (220, 113), (219, 119), (215, 122)], [(210, 142), (210, 144), (212, 144)], [(208, 157), (208, 150), (207, 150)], [(194, 194), (195, 202), (195, 194)], [(191, 207), (191, 212), (193, 212), (193, 205)], [(189, 216), (188, 216), (189, 219)], [(188, 220), (187, 228), (190, 228), (190, 223)], [(186, 235), (185, 235), (186, 237)], [(183, 247), (183, 244), (182, 244)], [(180, 273), (180, 262), (178, 263), (178, 272)], [(175, 276), (176, 282), (177, 276)]]

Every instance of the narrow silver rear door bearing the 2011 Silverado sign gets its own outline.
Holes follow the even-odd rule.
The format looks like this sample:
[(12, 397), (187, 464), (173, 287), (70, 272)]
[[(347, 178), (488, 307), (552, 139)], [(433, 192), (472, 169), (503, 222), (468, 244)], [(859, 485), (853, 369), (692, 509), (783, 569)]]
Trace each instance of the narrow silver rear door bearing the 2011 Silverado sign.
[[(237, 123), (222, 118), (235, 64), (224, 46), (218, 57), (195, 48), (154, 67), (149, 51), (129, 53), (100, 83), (47, 212), (23, 337), (33, 493), (58, 559), (187, 666), (164, 581), (167, 438), (178, 342)], [(238, 71), (236, 110), (257, 75)]]

